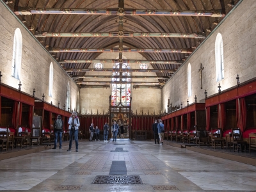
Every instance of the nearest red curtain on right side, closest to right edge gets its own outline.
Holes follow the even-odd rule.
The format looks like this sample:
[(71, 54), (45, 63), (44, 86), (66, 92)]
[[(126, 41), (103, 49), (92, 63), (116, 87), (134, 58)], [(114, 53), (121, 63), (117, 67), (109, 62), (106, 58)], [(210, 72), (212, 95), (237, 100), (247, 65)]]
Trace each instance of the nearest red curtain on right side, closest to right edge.
[(236, 118), (237, 127), (241, 129), (241, 132), (246, 129), (246, 103), (244, 97), (236, 100)]

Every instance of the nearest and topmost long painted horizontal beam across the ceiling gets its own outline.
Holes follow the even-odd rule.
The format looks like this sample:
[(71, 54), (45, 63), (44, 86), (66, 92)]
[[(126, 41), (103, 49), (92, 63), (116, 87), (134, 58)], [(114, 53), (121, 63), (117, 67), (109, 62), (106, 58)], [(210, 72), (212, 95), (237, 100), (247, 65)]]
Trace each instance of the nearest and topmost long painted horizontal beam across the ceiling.
[(109, 9), (75, 9), (75, 8), (32, 8), (15, 6), (16, 15), (33, 14), (61, 14), (61, 15), (157, 15), (157, 16), (195, 16), (195, 17), (225, 17), (222, 10), (140, 10), (124, 9), (119, 12), (118, 8)]

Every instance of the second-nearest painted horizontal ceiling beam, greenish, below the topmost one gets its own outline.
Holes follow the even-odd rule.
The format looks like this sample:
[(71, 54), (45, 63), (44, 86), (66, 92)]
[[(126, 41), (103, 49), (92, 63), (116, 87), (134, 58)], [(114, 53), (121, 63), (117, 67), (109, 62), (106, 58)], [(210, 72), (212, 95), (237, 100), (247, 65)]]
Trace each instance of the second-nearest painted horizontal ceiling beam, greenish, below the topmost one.
[(206, 38), (205, 33), (152, 33), (152, 32), (132, 32), (126, 31), (123, 33), (110, 31), (110, 32), (47, 32), (36, 31), (36, 37), (161, 37), (161, 38)]

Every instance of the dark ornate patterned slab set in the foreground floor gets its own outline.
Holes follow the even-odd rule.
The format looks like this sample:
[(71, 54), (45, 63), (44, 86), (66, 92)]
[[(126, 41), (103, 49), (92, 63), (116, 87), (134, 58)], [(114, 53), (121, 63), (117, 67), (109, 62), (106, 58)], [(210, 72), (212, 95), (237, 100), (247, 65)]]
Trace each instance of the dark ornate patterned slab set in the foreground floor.
[(93, 184), (143, 184), (138, 175), (97, 175)]

